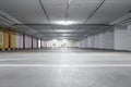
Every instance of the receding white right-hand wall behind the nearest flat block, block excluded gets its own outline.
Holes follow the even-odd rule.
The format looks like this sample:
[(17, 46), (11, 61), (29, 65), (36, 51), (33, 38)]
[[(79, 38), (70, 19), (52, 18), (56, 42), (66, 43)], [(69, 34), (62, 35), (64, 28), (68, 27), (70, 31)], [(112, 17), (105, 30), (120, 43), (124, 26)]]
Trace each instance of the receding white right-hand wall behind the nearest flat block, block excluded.
[(114, 49), (114, 30), (88, 36), (78, 42), (80, 48)]

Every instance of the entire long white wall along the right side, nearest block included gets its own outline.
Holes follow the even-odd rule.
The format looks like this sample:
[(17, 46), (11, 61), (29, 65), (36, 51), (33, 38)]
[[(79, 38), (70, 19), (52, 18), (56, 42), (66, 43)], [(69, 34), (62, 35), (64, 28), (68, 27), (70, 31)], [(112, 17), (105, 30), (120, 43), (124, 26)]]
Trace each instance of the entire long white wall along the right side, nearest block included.
[(110, 32), (88, 36), (76, 42), (80, 48), (99, 48), (131, 51), (131, 25), (117, 26)]

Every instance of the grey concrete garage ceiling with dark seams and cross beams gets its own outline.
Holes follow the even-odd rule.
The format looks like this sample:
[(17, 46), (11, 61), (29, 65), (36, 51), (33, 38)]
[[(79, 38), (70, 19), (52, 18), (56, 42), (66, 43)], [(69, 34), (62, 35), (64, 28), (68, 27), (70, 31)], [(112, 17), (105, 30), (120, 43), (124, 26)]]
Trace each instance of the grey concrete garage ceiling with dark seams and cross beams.
[[(37, 38), (76, 40), (128, 14), (131, 0), (0, 0), (0, 10), (21, 22), (13, 26), (27, 26)], [(57, 24), (64, 21), (73, 25)]]

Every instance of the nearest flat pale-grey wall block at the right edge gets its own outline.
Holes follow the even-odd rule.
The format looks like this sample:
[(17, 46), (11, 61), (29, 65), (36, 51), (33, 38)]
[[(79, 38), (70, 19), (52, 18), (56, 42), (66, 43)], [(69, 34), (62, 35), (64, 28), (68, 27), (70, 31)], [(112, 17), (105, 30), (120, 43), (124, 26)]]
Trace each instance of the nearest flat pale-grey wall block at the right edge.
[(131, 36), (128, 28), (124, 26), (115, 27), (115, 50), (129, 50), (131, 49)]

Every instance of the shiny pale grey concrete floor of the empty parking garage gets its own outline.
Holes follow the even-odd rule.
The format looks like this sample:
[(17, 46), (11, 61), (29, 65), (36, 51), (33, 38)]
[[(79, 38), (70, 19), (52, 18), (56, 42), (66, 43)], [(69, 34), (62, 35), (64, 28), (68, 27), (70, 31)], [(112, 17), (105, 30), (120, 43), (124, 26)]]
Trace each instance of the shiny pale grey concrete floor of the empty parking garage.
[(131, 53), (81, 49), (1, 52), (0, 87), (131, 87)]

